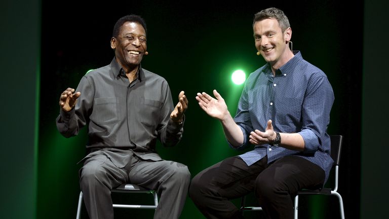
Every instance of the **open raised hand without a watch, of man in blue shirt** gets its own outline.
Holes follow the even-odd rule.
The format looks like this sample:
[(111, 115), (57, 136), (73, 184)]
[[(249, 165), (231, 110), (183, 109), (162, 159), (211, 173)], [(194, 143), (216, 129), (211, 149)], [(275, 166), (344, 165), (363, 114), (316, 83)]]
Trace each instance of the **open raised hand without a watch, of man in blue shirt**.
[(213, 95), (216, 97), (213, 98), (207, 93), (197, 93), (196, 99), (199, 101), (200, 107), (211, 117), (216, 118), (218, 120), (223, 120), (229, 115), (227, 104), (223, 97), (220, 94), (213, 90)]

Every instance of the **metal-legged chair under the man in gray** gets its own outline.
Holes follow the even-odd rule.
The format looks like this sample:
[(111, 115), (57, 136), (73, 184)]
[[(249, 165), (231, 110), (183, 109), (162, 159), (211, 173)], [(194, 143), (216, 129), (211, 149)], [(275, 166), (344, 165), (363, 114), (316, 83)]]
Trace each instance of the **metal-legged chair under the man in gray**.
[[(158, 206), (158, 196), (155, 191), (145, 189), (135, 184), (122, 184), (118, 188), (113, 189), (111, 192), (112, 193), (147, 193), (147, 194), (152, 194), (154, 199), (154, 205), (112, 204), (114, 208), (156, 209)], [(76, 219), (80, 219), (82, 203), (83, 203), (83, 192), (80, 192)]]

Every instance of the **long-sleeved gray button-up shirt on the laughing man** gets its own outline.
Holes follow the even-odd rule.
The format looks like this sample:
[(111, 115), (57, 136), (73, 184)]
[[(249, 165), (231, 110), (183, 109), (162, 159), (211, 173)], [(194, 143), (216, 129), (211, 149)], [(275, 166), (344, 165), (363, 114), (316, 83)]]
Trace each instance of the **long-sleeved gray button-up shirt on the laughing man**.
[(81, 96), (70, 112), (60, 110), (57, 128), (62, 135), (77, 135), (88, 125), (89, 151), (131, 149), (141, 158), (160, 160), (155, 143), (179, 142), (183, 124), (170, 120), (174, 109), (167, 81), (139, 67), (132, 83), (113, 58), (104, 67), (88, 72), (76, 92)]

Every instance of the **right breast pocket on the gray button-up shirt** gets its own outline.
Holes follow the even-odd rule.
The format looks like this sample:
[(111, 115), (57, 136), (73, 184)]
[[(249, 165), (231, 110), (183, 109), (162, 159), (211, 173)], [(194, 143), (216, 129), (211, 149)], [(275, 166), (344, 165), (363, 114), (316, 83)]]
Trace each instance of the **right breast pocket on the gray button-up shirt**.
[(162, 102), (153, 99), (144, 99), (144, 103), (139, 107), (139, 121), (148, 127), (154, 127), (159, 123)]

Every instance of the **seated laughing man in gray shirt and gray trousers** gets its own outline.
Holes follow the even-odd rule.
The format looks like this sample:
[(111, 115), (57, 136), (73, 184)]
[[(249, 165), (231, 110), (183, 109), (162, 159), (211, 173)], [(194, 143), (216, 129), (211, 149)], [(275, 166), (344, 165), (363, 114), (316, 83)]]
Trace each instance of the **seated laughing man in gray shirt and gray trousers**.
[(113, 218), (110, 191), (124, 183), (157, 191), (163, 204), (154, 218), (178, 218), (185, 202), (188, 168), (163, 160), (155, 143), (179, 142), (188, 100), (181, 91), (174, 107), (167, 81), (141, 67), (148, 54), (146, 35), (141, 17), (120, 18), (111, 38), (111, 63), (90, 71), (59, 100), (57, 128), (62, 135), (77, 135), (88, 126), (80, 187), (90, 218)]

